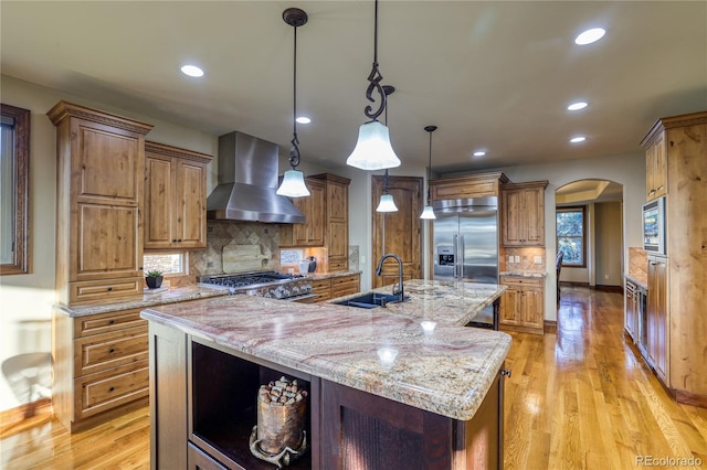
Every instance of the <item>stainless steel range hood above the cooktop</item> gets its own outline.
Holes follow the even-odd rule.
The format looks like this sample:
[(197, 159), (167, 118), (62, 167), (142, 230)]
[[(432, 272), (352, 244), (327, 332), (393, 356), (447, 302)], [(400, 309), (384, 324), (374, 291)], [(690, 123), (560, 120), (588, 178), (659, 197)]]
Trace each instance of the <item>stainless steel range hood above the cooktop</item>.
[(276, 143), (231, 132), (219, 137), (219, 184), (207, 199), (207, 217), (303, 224), (305, 216), (277, 195)]

